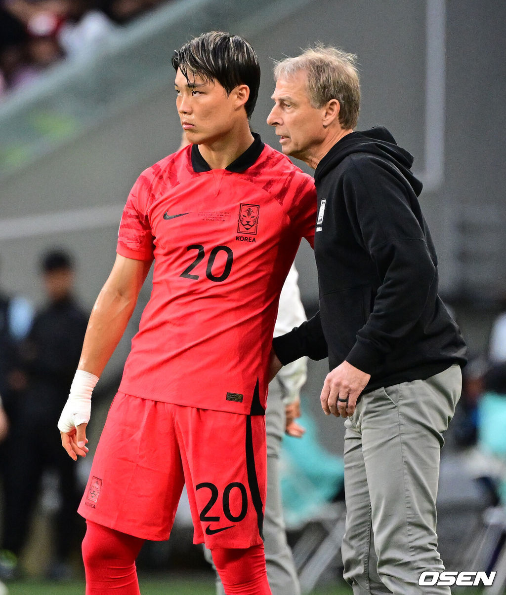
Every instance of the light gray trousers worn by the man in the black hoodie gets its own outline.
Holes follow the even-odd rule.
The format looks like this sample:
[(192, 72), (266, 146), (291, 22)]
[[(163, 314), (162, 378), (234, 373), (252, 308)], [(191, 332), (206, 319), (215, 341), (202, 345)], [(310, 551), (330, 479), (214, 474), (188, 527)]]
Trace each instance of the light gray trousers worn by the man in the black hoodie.
[(443, 432), (461, 392), (460, 367), (427, 380), (374, 390), (344, 427), (344, 578), (354, 595), (440, 595), (420, 587), (443, 571), (436, 496)]

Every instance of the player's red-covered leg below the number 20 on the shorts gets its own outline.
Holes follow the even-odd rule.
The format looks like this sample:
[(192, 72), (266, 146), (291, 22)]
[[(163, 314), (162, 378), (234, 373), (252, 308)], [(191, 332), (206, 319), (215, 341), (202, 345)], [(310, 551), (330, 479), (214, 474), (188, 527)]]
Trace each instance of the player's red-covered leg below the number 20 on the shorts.
[(226, 595), (271, 595), (263, 544), (248, 549), (217, 547), (211, 553)]

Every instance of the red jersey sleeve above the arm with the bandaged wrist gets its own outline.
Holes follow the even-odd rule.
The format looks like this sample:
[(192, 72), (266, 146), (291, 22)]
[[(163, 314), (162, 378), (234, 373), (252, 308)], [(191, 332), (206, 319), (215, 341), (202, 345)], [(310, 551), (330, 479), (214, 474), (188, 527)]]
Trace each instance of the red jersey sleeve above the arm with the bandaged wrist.
[(118, 231), (116, 252), (135, 260), (153, 260), (153, 233), (147, 215), (151, 183), (142, 173), (130, 191)]

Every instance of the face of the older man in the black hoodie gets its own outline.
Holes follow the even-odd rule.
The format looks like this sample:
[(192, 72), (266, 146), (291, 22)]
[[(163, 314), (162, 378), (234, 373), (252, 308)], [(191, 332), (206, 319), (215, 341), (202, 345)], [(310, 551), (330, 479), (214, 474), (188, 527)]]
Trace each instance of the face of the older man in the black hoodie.
[(308, 160), (325, 137), (323, 111), (309, 102), (306, 79), (304, 70), (278, 79), (272, 95), (274, 107), (267, 118), (280, 137), (281, 151), (303, 161)]

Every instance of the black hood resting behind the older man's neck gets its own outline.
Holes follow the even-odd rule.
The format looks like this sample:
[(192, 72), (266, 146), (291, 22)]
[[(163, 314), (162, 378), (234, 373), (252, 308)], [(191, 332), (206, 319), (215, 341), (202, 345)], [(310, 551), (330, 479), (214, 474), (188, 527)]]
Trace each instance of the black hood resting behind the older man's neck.
[(315, 182), (318, 184), (329, 171), (333, 171), (340, 162), (353, 153), (378, 155), (392, 162), (408, 180), (417, 196), (420, 196), (423, 184), (412, 174), (414, 158), (400, 147), (389, 130), (375, 126), (370, 130), (351, 132), (339, 140), (319, 162), (315, 170)]

